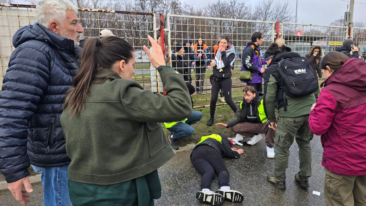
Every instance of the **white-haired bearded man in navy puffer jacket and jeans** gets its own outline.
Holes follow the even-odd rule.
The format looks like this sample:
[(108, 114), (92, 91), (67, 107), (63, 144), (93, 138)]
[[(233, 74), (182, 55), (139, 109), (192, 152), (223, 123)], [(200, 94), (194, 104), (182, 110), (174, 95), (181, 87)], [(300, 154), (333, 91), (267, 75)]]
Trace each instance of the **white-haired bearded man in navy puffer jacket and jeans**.
[(78, 71), (75, 48), (83, 29), (77, 12), (66, 0), (41, 0), (37, 22), (13, 36), (15, 50), (0, 93), (0, 172), (24, 206), (33, 192), (30, 164), (41, 174), (45, 206), (72, 205), (60, 115)]

